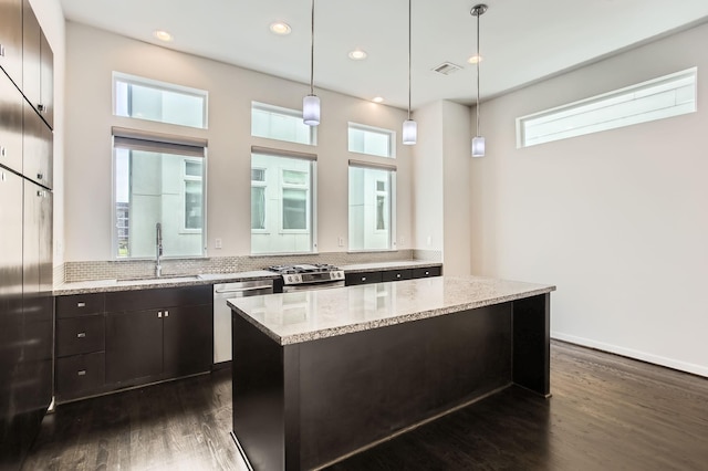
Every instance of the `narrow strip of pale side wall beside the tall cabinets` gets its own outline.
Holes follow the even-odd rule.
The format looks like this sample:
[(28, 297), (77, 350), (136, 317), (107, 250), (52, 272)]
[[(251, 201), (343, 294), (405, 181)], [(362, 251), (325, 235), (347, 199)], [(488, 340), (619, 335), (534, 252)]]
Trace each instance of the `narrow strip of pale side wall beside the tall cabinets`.
[(64, 261), (64, 74), (65, 22), (59, 0), (30, 0), (54, 54), (54, 266)]

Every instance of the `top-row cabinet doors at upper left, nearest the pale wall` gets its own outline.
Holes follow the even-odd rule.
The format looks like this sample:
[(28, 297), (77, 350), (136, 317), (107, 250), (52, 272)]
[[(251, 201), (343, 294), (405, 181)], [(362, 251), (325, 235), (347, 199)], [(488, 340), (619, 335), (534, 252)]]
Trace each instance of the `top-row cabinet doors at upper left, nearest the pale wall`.
[(23, 7), (22, 38), (22, 93), (46, 124), (54, 127), (54, 53), (28, 0)]

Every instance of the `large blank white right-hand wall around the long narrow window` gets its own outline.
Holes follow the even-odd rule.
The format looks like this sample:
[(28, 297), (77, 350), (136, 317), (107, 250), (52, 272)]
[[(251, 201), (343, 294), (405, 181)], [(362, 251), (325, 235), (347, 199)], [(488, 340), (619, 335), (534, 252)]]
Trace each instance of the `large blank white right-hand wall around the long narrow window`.
[[(472, 271), (558, 285), (552, 335), (708, 376), (708, 25), (485, 103)], [(698, 66), (698, 113), (516, 148), (514, 119)]]

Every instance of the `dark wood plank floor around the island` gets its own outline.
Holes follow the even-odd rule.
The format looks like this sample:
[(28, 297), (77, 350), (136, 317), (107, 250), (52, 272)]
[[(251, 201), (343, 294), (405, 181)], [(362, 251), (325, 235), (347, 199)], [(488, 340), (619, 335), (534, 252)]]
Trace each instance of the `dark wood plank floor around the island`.
[[(708, 470), (708, 379), (558, 342), (551, 370), (330, 470)], [(243, 470), (229, 375), (60, 406), (23, 469)]]

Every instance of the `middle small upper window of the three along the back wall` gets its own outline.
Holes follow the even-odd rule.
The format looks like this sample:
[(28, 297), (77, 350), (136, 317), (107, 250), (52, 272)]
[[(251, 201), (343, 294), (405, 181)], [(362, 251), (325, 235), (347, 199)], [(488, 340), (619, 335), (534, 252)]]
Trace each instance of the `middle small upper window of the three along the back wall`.
[(316, 127), (302, 122), (302, 112), (251, 102), (251, 136), (316, 144)]

